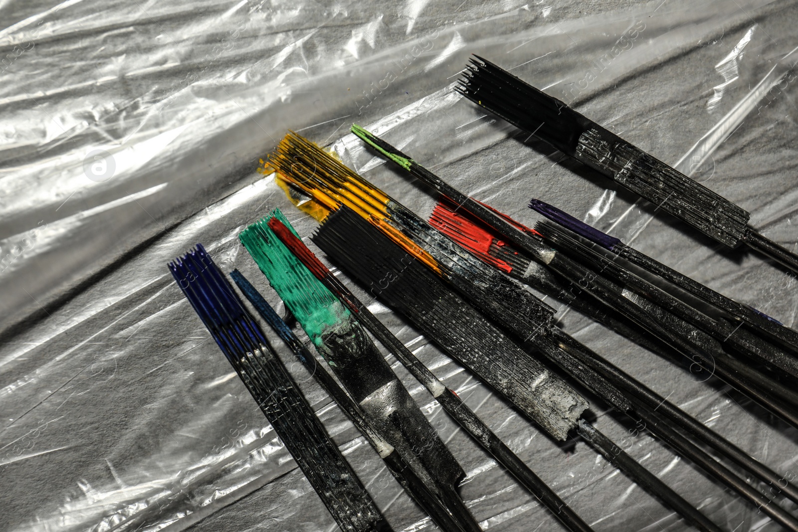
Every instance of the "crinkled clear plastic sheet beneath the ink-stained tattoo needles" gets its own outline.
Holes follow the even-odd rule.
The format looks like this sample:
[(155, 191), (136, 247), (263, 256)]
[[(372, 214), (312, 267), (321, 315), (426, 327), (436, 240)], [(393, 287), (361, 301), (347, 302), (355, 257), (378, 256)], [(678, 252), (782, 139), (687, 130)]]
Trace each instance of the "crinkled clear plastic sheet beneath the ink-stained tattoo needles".
[[(525, 223), (537, 197), (795, 325), (792, 276), (720, 250), (453, 93), (478, 53), (752, 213), (793, 249), (796, 2), (3, 2), (0, 523), (4, 530), (334, 530), (165, 263), (203, 242), (276, 296), (237, 234), (281, 207), (255, 169), (287, 129), (428, 215), (352, 122)], [(556, 305), (555, 301), (551, 301)], [(584, 443), (541, 434), (400, 318), (402, 341), (595, 530), (687, 530)], [(568, 309), (559, 325), (788, 478), (796, 432)], [(395, 530), (433, 525), (284, 361)], [(404, 369), (483, 528), (561, 530)], [(778, 530), (592, 402), (596, 425), (725, 530)]]

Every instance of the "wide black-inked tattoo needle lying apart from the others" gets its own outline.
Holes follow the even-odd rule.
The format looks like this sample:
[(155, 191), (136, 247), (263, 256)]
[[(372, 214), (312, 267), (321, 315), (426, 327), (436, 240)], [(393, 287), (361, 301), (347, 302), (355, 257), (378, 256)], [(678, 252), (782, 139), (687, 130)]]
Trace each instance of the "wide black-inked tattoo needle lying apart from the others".
[(745, 243), (798, 273), (798, 256), (749, 227), (741, 207), (490, 61), (475, 56), (457, 90), (717, 242)]

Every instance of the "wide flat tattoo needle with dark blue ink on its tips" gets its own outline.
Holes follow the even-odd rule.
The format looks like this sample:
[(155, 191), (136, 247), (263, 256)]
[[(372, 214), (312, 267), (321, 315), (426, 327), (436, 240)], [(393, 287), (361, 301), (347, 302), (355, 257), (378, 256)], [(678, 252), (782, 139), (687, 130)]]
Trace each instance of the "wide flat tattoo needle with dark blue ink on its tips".
[(391, 530), (203, 246), (169, 270), (342, 530)]

